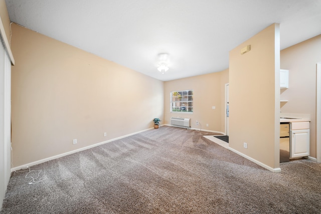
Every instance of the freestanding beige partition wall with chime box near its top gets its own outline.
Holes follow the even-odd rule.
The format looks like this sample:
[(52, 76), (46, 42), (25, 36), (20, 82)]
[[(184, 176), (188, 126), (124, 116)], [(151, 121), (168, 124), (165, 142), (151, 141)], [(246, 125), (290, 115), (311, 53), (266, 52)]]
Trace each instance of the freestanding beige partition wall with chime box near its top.
[(279, 51), (278, 24), (230, 51), (229, 146), (271, 168), (279, 167)]

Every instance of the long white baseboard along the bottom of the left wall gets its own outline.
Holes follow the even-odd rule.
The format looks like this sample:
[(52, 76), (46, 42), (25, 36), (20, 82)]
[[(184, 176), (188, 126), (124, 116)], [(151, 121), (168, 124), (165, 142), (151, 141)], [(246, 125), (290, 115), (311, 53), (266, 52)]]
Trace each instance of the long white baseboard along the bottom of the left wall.
[(93, 147), (96, 147), (96, 146), (99, 146), (99, 145), (102, 145), (102, 144), (105, 144), (105, 143), (109, 143), (109, 142), (114, 141), (114, 140), (119, 140), (119, 139), (122, 139), (122, 138), (125, 138), (125, 137), (129, 137), (131, 135), (138, 134), (138, 133), (150, 130), (150, 129), (153, 129), (153, 128), (148, 128), (148, 129), (145, 129), (145, 130), (142, 130), (142, 131), (134, 132), (134, 133), (127, 134), (127, 135), (124, 135), (124, 136), (121, 136), (121, 137), (116, 137), (116, 138), (113, 138), (113, 139), (110, 139), (110, 140), (106, 140), (106, 141), (103, 141), (103, 142), (100, 142), (100, 143), (92, 144), (92, 145), (85, 146), (85, 147), (82, 147), (82, 148), (79, 148), (79, 149), (76, 149), (76, 150), (68, 151), (68, 152), (65, 152), (65, 153), (62, 153), (62, 154), (58, 154), (58, 155), (47, 157), (47, 158), (44, 158), (44, 159), (41, 159), (41, 160), (37, 160), (37, 161), (31, 162), (31, 163), (27, 163), (27, 164), (24, 164), (24, 165), (21, 165), (21, 166), (17, 166), (17, 167), (11, 168), (11, 172), (17, 171), (17, 170), (20, 170), (20, 169), (26, 169), (26, 168), (28, 168), (30, 166), (34, 166), (34, 165), (37, 165), (37, 164), (40, 164), (40, 163), (47, 162), (49, 160), (57, 159), (59, 157), (63, 157), (63, 156), (69, 155), (69, 154), (73, 154), (73, 153), (79, 152), (79, 151), (90, 149), (90, 148), (93, 148)]

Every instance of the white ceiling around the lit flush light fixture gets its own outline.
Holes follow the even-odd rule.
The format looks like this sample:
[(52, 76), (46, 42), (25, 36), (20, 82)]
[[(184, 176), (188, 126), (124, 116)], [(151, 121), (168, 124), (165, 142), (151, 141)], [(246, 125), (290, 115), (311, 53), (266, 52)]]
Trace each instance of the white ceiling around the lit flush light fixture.
[[(6, 0), (10, 20), (153, 78), (219, 72), (273, 23), (281, 50), (321, 34), (321, 0)], [(169, 53), (162, 75), (157, 54)]]

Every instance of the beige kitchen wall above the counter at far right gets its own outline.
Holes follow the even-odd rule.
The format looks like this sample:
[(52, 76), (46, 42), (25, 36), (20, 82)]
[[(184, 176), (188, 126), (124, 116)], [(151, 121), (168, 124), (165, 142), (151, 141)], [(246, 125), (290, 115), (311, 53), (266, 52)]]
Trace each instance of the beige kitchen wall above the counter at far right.
[(289, 88), (281, 90), (284, 113), (311, 115), (310, 156), (316, 157), (316, 63), (321, 62), (321, 35), (281, 51), (281, 69), (289, 70)]

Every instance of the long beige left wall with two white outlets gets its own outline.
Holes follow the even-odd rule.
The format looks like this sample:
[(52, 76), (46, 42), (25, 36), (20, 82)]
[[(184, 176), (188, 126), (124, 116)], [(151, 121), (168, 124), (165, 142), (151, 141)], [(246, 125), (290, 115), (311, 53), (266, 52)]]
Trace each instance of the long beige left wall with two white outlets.
[(12, 32), (14, 166), (164, 120), (164, 82), (16, 24)]

